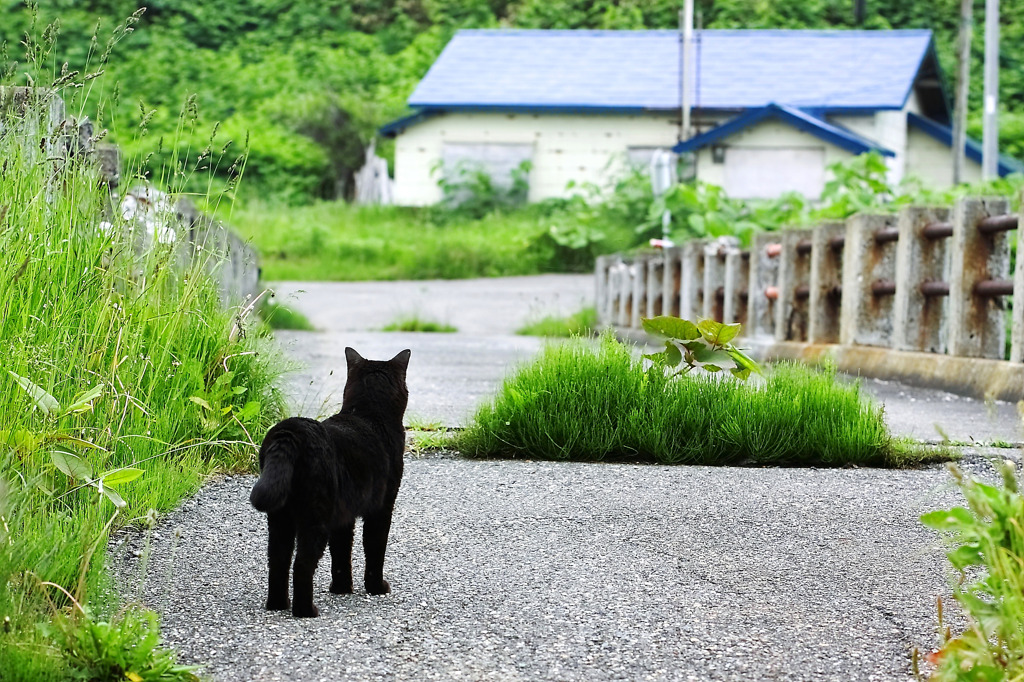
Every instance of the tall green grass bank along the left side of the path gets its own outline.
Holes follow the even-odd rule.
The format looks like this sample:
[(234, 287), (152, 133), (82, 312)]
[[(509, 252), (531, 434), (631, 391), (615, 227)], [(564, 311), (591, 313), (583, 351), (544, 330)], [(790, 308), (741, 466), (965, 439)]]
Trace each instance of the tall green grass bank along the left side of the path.
[(139, 255), (92, 164), (26, 130), (0, 125), (0, 677), (57, 680), (78, 664), (38, 626), (69, 603), (113, 614), (95, 590), (110, 530), (251, 467), (282, 397), (273, 352), (240, 334), (204, 263)]

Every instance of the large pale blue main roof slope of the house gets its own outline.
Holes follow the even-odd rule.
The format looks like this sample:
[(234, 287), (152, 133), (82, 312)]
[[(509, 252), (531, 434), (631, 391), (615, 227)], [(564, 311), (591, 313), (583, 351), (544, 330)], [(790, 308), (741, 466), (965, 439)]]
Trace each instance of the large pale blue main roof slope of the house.
[[(779, 102), (827, 112), (901, 109), (932, 33), (695, 33), (692, 105)], [(675, 111), (676, 31), (463, 30), (409, 98), (417, 109)]]

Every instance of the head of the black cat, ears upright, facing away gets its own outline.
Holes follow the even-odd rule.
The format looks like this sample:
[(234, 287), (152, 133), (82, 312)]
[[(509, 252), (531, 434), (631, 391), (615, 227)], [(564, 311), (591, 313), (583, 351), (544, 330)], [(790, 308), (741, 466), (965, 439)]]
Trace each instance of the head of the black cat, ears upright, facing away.
[(343, 407), (401, 419), (409, 402), (406, 372), (413, 351), (407, 348), (389, 360), (368, 360), (353, 348), (345, 348), (348, 378)]

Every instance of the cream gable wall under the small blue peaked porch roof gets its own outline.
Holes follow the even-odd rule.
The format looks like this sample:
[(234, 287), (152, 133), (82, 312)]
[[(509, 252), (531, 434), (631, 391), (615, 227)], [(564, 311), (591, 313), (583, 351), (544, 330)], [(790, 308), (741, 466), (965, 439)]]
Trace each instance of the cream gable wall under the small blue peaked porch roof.
[[(725, 163), (715, 163), (712, 157), (712, 147), (705, 147), (697, 152), (697, 178), (726, 187), (730, 196), (736, 199), (777, 196), (780, 188), (785, 188), (785, 183), (780, 182), (782, 176), (779, 174), (769, 175), (766, 173), (760, 178), (760, 181), (758, 178), (746, 178), (749, 181), (744, 182), (744, 186), (729, 186), (730, 164), (734, 165), (737, 159), (748, 156), (743, 154), (730, 155), (730, 150), (743, 152), (751, 150), (778, 151), (780, 159), (788, 159), (791, 163), (801, 163), (806, 166), (788, 169), (795, 182), (800, 182), (797, 178), (803, 178), (805, 183), (814, 174), (817, 174), (821, 181), (827, 181), (828, 174), (823, 166), (845, 161), (853, 156), (846, 150), (829, 144), (819, 137), (772, 119), (762, 121), (751, 128), (730, 135), (722, 142), (720, 146), (725, 147)], [(783, 151), (792, 151), (795, 154), (785, 155)], [(812, 151), (820, 152), (820, 154), (815, 157), (814, 154), (809, 154)], [(814, 167), (811, 167), (810, 164), (813, 164)], [(732, 184), (734, 183), (735, 180)], [(798, 186), (794, 185), (790, 188), (796, 189)], [(818, 193), (820, 193), (820, 187)]]

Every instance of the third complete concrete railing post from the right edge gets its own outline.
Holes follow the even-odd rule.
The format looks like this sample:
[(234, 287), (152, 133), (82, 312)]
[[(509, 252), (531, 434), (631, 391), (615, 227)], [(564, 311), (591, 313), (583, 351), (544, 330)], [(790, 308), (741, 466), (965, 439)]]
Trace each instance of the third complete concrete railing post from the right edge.
[(896, 216), (857, 214), (846, 221), (840, 343), (890, 346), (896, 278)]

